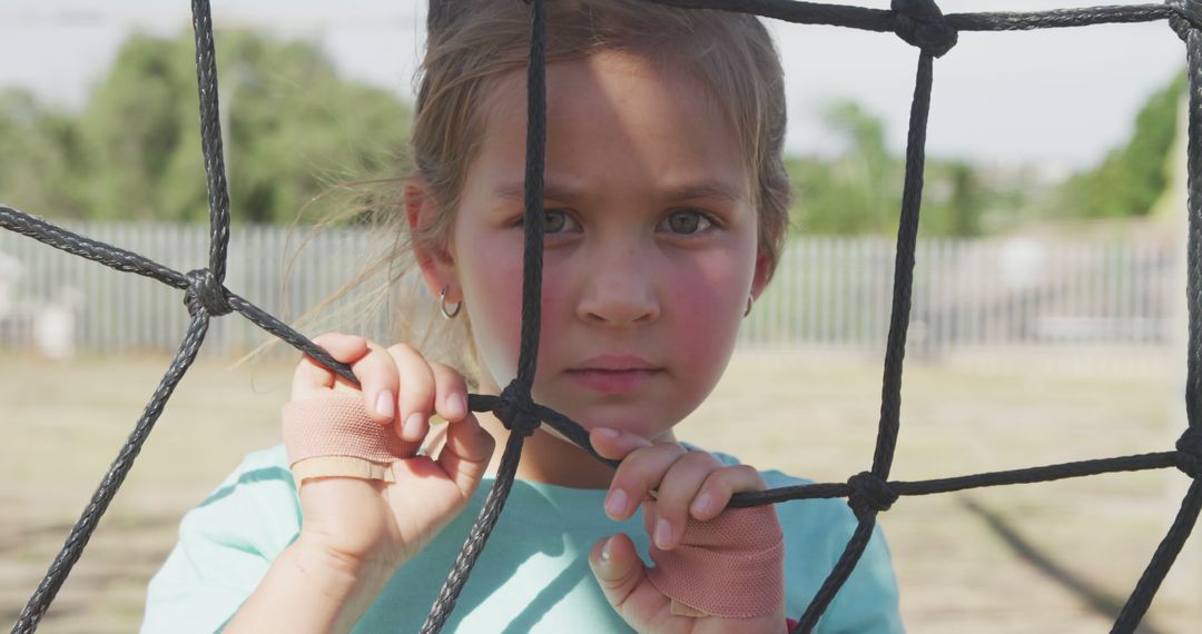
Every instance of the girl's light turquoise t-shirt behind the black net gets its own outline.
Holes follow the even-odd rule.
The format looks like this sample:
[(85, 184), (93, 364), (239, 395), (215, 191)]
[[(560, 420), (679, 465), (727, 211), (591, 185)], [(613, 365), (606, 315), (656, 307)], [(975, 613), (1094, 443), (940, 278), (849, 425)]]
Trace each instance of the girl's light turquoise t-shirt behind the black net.
[[(728, 465), (738, 461), (715, 454)], [(761, 472), (769, 488), (805, 484)], [(391, 580), (356, 633), (418, 632), (483, 507), (486, 478), (468, 508)], [(630, 632), (602, 594), (588, 555), (602, 537), (630, 536), (643, 561), (641, 514), (615, 522), (602, 489), (517, 480), (444, 632), (578, 634)], [(841, 500), (776, 504), (785, 534), (786, 615), (797, 618), (839, 558), (856, 519)], [(144, 633), (221, 629), (258, 586), (300, 527), (300, 506), (284, 447), (249, 454), (184, 516), (179, 543), (150, 581)], [(877, 530), (816, 632), (903, 632), (888, 548)]]

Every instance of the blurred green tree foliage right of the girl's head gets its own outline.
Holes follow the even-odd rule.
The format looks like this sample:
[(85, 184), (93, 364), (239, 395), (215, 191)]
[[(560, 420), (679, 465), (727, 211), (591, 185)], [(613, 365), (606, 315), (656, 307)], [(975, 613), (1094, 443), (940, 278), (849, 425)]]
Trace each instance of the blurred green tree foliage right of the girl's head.
[[(1055, 187), (1034, 168), (1001, 172), (928, 157), (922, 234), (972, 237), (1048, 219), (1148, 215), (1170, 183), (1168, 154), (1184, 90), (1182, 73), (1148, 97), (1126, 142)], [(881, 120), (855, 103), (839, 103), (828, 109), (826, 124), (844, 134), (845, 150), (834, 158), (789, 162), (795, 226), (804, 233), (893, 234), (905, 165), (889, 154)]]

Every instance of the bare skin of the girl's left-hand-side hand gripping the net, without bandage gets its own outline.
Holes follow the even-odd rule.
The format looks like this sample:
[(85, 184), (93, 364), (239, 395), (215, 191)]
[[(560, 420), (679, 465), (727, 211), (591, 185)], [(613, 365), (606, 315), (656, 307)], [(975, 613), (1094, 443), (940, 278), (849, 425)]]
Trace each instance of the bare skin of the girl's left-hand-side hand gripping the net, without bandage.
[[(463, 510), (488, 467), (493, 437), (468, 409), (466, 384), (451, 367), (427, 361), (403, 343), (385, 349), (339, 333), (314, 342), (350, 364), (362, 389), (304, 357), (292, 379), (292, 400), (362, 399), (373, 420), (406, 441), (406, 450), (389, 466), (394, 483), (307, 478), (300, 484), (297, 542), (351, 569), (368, 566), (391, 576)], [(436, 460), (417, 455), (434, 413), (450, 423)]]

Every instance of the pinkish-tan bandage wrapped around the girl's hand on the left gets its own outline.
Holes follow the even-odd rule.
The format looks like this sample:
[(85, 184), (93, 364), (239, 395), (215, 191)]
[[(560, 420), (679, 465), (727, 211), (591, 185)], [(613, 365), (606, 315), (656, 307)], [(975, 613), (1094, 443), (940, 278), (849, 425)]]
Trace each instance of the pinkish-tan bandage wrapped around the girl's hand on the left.
[(421, 443), (405, 442), (395, 427), (371, 420), (363, 399), (334, 394), (284, 405), (284, 447), (297, 483), (346, 477), (391, 482), (394, 461)]

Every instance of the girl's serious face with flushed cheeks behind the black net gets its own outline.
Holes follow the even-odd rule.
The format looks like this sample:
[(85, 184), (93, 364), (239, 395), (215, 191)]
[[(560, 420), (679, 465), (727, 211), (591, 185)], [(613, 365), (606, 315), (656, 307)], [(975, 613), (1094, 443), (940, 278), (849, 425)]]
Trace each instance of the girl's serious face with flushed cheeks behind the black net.
[[(462, 289), (481, 389), (495, 394), (517, 376), (520, 339), (524, 73), (489, 97), (436, 267)], [(767, 276), (743, 154), (686, 73), (630, 54), (549, 65), (547, 113), (534, 399), (587, 429), (661, 437), (718, 382)]]

